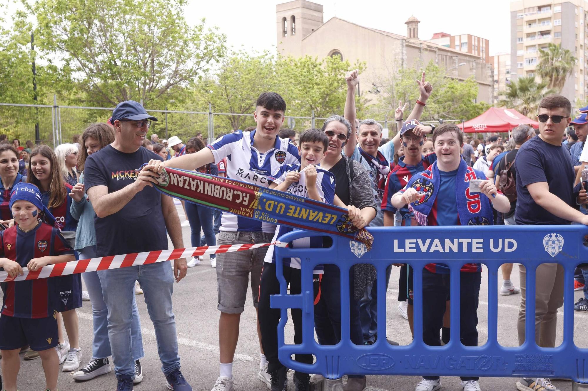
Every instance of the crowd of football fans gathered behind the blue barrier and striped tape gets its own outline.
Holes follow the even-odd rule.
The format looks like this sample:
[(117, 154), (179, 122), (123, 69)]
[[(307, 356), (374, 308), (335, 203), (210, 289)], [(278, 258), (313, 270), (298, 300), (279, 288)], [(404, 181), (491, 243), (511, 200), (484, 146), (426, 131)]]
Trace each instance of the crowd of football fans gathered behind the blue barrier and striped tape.
[[(382, 139), (382, 125), (356, 118), (358, 70), (345, 76), (347, 99), (343, 115), (333, 114), (320, 129), (301, 134), (282, 128), (286, 102), (275, 92), (256, 101), (255, 127), (223, 134), (208, 145), (202, 133), (185, 142), (178, 136), (159, 140), (147, 134), (156, 117), (132, 100), (119, 103), (106, 123), (88, 126), (71, 144), (54, 149), (0, 136), (0, 267), (12, 277), (74, 259), (183, 248), (182, 227), (189, 227), (192, 247), (216, 244), (258, 244), (277, 240), (292, 228), (250, 220), (202, 205), (183, 203), (186, 220), (168, 195), (154, 187), (164, 167), (196, 170), (257, 186), (275, 188), (348, 210), (357, 228), (416, 225), (533, 225), (588, 224), (588, 195), (581, 171), (588, 164), (584, 141), (588, 107), (572, 118), (572, 105), (560, 95), (539, 104), (539, 129), (517, 126), (500, 136), (477, 139), (459, 126), (419, 122), (433, 86), (425, 72), (417, 80), (419, 99), (405, 116), (402, 102), (395, 111), (399, 131)], [(570, 124), (573, 130), (569, 129)], [(138, 169), (138, 167), (142, 167)], [(459, 180), (458, 180), (459, 179)], [(481, 180), (479, 193), (467, 193), (470, 180)], [(426, 195), (422, 183), (430, 183)], [(463, 194), (475, 201), (467, 207)], [(201, 235), (202, 234), (202, 235)], [(145, 240), (148, 238), (149, 240)], [(294, 248), (322, 247), (323, 238), (293, 241)], [(47, 248), (49, 248), (48, 251)], [(46, 251), (46, 252), (45, 252)], [(19, 353), (41, 358), (46, 390), (56, 391), (59, 365), (76, 380), (86, 381), (111, 372), (118, 391), (129, 391), (143, 379), (141, 319), (136, 295), (145, 298), (155, 328), (159, 358), (168, 389), (192, 390), (181, 372), (173, 282), (186, 276), (202, 257), (114, 268), (45, 279), (2, 283), (0, 352), (4, 385), (16, 391)], [(290, 294), (301, 290), (300, 259), (283, 259)], [(285, 391), (288, 368), (278, 359), (280, 310), (270, 307), (279, 293), (273, 245), (254, 250), (211, 255), (216, 268), (219, 316), (219, 376), (212, 391), (232, 391), (233, 358), (239, 337), (240, 314), (248, 289), (258, 314), (258, 378), (272, 391)], [(513, 264), (503, 264), (501, 295), (520, 294), (517, 322), (519, 343), (525, 339), (526, 272), (519, 284), (511, 281)], [(393, 267), (400, 267), (399, 311), (413, 332), (413, 300), (423, 298), (423, 340), (445, 345), (450, 339), (449, 267), (428, 264), (422, 292), (413, 290), (410, 265), (386, 268), (388, 288)], [(321, 345), (341, 339), (341, 278), (335, 264), (315, 268), (315, 331)], [(588, 311), (587, 269), (578, 268), (574, 289), (584, 290), (576, 311)], [(555, 346), (557, 310), (563, 305), (563, 267), (542, 264), (536, 271), (535, 339)], [(350, 269), (350, 339), (357, 345), (376, 342), (378, 318), (376, 269), (356, 264)], [(85, 290), (82, 291), (82, 278)], [(460, 278), (460, 340), (477, 346), (477, 307), (482, 265), (463, 265)], [(250, 287), (250, 288), (249, 288)], [(93, 315), (91, 358), (82, 366), (76, 308), (89, 300)], [(302, 342), (301, 310), (292, 309), (294, 341)], [(343, 321), (345, 322), (345, 321)], [(63, 323), (65, 334), (62, 332)], [(67, 338), (66, 338), (67, 337)], [(397, 345), (388, 339), (391, 345)], [(312, 355), (296, 355), (312, 363)], [(296, 391), (308, 391), (323, 377), (295, 372)], [(464, 391), (480, 390), (478, 377), (462, 377)], [(199, 388), (201, 388), (199, 385)], [(366, 377), (348, 375), (345, 391), (361, 391)], [(547, 377), (522, 377), (517, 389), (554, 390)], [(440, 388), (439, 376), (423, 376), (416, 391)]]

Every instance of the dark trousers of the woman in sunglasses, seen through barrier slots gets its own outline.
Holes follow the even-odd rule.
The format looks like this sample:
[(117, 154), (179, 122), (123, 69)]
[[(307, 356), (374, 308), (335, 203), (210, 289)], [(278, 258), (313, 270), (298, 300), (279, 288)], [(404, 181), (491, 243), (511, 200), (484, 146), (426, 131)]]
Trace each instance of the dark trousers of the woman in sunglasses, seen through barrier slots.
[[(362, 326), (359, 322), (359, 303), (353, 299), (353, 268), (349, 272), (349, 338), (356, 345), (363, 345)], [(319, 288), (315, 288), (315, 330), (320, 345), (335, 345), (341, 341), (341, 275), (339, 268), (325, 264)], [(318, 296), (320, 295), (320, 296)], [(318, 299), (318, 301), (317, 301)], [(348, 375), (348, 377), (364, 377)]]

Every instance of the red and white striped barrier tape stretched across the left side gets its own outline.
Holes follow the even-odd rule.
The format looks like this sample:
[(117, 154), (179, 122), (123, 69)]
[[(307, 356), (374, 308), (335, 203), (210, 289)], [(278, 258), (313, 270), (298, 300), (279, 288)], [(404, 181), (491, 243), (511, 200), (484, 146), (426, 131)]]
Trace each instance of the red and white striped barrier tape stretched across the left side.
[(78, 274), (97, 270), (126, 268), (155, 264), (156, 262), (171, 261), (178, 258), (198, 257), (199, 255), (222, 254), (225, 252), (236, 252), (253, 250), (254, 248), (268, 247), (269, 245), (285, 245), (279, 241), (260, 244), (223, 244), (218, 246), (202, 246), (188, 248), (173, 248), (172, 250), (135, 252), (133, 254), (110, 255), (108, 257), (80, 259), (79, 261), (63, 262), (61, 264), (46, 265), (37, 271), (29, 271), (22, 268), (23, 275), (10, 277), (8, 272), (0, 272), (0, 282), (25, 281), (27, 279), (58, 277), (61, 275)]

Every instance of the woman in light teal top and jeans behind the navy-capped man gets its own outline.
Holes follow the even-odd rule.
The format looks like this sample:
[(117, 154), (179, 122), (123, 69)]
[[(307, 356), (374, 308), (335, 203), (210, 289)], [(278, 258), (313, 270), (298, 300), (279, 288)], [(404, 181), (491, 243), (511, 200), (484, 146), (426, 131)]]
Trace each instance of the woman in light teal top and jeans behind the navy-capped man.
[[(72, 188), (72, 192), (69, 194), (74, 200), (71, 205), (71, 214), (79, 220), (74, 249), (79, 251), (80, 259), (96, 257), (96, 231), (94, 229), (96, 213), (84, 193), (83, 167), (88, 155), (102, 149), (112, 141), (114, 141), (114, 130), (112, 126), (106, 123), (91, 124), (82, 134), (82, 143), (78, 152), (78, 170), (81, 174), (79, 183)], [(74, 373), (74, 379), (89, 380), (110, 372), (111, 367), (108, 356), (112, 353), (108, 340), (108, 319), (106, 318), (108, 309), (102, 296), (102, 285), (98, 278), (98, 272), (85, 272), (82, 276), (92, 304), (94, 338), (92, 359), (88, 365)], [(141, 336), (141, 319), (139, 318), (139, 311), (134, 298), (132, 316), (131, 339), (133, 359), (135, 360), (135, 379), (133, 382), (139, 383), (143, 378), (141, 363), (139, 363), (139, 359), (143, 358), (143, 340)]]

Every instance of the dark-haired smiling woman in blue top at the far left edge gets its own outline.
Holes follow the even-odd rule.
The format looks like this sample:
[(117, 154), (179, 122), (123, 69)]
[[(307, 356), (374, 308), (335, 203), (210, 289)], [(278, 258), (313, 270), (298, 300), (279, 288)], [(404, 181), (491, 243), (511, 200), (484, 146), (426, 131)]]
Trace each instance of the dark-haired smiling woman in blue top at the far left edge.
[(0, 144), (0, 178), (0, 223), (8, 227), (12, 220), (10, 192), (15, 184), (26, 182), (26, 177), (18, 173), (18, 151), (11, 144)]

